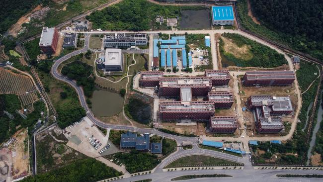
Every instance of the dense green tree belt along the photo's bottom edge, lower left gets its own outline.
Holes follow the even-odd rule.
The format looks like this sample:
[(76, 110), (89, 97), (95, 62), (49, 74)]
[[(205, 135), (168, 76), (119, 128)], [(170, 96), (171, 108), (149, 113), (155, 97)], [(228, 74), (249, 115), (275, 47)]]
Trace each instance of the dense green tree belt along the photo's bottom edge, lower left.
[(21, 182), (96, 182), (120, 175), (95, 159), (83, 159), (48, 173), (29, 176)]

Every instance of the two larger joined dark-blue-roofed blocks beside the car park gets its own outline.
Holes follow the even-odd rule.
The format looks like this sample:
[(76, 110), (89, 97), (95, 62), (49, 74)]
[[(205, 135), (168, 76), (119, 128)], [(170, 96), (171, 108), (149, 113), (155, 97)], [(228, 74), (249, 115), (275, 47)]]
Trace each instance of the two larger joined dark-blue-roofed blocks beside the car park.
[(137, 136), (136, 133), (132, 133), (131, 131), (121, 134), (120, 148), (135, 148), (136, 150), (149, 150), (149, 147), (150, 144), (148, 133), (144, 134), (144, 136)]

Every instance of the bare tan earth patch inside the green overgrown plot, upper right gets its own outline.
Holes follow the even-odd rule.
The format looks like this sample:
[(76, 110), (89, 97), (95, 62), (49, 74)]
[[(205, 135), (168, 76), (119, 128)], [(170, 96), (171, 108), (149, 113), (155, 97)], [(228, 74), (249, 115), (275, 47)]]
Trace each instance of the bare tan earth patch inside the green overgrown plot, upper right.
[(221, 37), (221, 39), (224, 41), (224, 50), (227, 53), (231, 53), (236, 58), (246, 61), (252, 59), (253, 55), (250, 52), (250, 47), (248, 45), (239, 47), (237, 44), (233, 43), (231, 39), (225, 37)]

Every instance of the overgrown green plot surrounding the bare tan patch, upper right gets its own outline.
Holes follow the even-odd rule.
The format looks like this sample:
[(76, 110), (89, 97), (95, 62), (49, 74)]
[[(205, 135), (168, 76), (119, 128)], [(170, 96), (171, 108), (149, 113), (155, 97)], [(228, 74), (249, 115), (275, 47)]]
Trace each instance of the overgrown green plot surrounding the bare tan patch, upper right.
[[(235, 33), (223, 33), (222, 36), (231, 39), (239, 48), (246, 46), (246, 49), (248, 49), (248, 53), (242, 55), (241, 58), (237, 58), (234, 54), (225, 51), (224, 40), (222, 38), (219, 39), (221, 57), (234, 63), (236, 66), (275, 68), (287, 64), (284, 55), (254, 40)], [(249, 55), (247, 56), (247, 54)], [(223, 66), (227, 67), (228, 65)]]

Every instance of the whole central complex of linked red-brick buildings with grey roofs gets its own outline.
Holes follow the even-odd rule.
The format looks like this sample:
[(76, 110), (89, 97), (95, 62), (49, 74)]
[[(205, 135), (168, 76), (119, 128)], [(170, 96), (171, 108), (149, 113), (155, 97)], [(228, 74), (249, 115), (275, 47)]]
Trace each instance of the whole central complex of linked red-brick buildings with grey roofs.
[[(154, 87), (159, 96), (176, 97), (179, 101), (161, 101), (161, 120), (208, 120), (210, 131), (235, 132), (236, 116), (216, 116), (215, 109), (230, 108), (234, 102), (231, 91), (211, 91), (214, 86), (227, 86), (228, 70), (207, 70), (200, 77), (163, 77), (163, 72), (141, 72), (140, 87)], [(207, 96), (208, 100), (193, 101), (192, 97)]]

